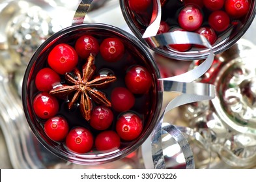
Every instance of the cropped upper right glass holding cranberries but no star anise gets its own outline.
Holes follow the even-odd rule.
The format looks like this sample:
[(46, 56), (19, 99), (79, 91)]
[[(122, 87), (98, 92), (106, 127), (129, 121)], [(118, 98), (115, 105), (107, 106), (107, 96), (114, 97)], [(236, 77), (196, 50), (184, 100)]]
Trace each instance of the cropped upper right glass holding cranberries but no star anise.
[[(150, 23), (156, 0), (119, 0), (122, 14), (135, 36), (156, 53), (178, 60), (205, 59), (209, 49), (188, 44), (153, 47), (142, 38)], [(217, 55), (231, 47), (247, 31), (255, 17), (255, 0), (160, 1), (162, 19), (158, 34), (173, 31), (197, 32), (205, 36)], [(137, 4), (135, 4), (137, 3)], [(216, 4), (214, 4), (216, 3)], [(139, 5), (138, 5), (139, 4)]]

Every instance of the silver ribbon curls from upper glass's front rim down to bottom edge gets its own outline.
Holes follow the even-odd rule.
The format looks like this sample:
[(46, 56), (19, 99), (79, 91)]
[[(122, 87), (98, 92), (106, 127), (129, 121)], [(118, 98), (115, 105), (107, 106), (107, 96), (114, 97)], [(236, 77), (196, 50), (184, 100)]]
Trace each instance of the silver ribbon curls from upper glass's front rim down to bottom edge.
[[(180, 95), (171, 100), (166, 107), (163, 107), (164, 111), (158, 121), (156, 129), (152, 132), (152, 135), (146, 140), (146, 142), (142, 146), (143, 159), (145, 161), (146, 168), (167, 168), (165, 162), (171, 161), (171, 159), (168, 159), (168, 155), (164, 155), (162, 147), (162, 136), (164, 136), (166, 133), (174, 138), (174, 140), (180, 146), (181, 153), (183, 153), (184, 155), (185, 166), (178, 165), (177, 168), (195, 168), (193, 152), (190, 148), (190, 145), (188, 144), (188, 140), (186, 140), (186, 137), (182, 134), (178, 127), (175, 127), (171, 124), (166, 125), (166, 123), (165, 125), (163, 125), (164, 116), (167, 112), (174, 109), (175, 107), (179, 107), (181, 105), (193, 103), (196, 101), (214, 99), (215, 97), (214, 85), (209, 85), (205, 83), (192, 83), (192, 81), (195, 81), (196, 79), (201, 77), (201, 75), (203, 75), (212, 65), (212, 62), (214, 60), (214, 53), (212, 51), (211, 45), (208, 44), (206, 38), (204, 36), (201, 36), (200, 34), (196, 34), (193, 32), (178, 32), (179, 36), (177, 36), (176, 33), (177, 32), (169, 32), (158, 35), (159, 38), (162, 38), (162, 40), (160, 39), (162, 41), (160, 43), (162, 45), (164, 42), (165, 45), (204, 45), (209, 48), (210, 54), (202, 64), (200, 64), (197, 68), (193, 70), (174, 77), (159, 79), (159, 81), (162, 82), (165, 92), (179, 92)], [(165, 36), (167, 36), (166, 39), (164, 39)], [(177, 37), (182, 38), (178, 39)], [(149, 159), (149, 156), (152, 157), (151, 160)]]

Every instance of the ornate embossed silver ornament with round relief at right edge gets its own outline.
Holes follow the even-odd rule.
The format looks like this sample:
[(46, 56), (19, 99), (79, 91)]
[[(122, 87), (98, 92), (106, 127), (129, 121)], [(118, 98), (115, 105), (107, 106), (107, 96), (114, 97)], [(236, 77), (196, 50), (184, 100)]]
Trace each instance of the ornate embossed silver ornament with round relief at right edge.
[(206, 145), (197, 147), (209, 147), (212, 164), (208, 167), (217, 159), (210, 159), (210, 155), (218, 155), (229, 168), (256, 166), (255, 48), (250, 42), (239, 40), (216, 56), (212, 68), (199, 79), (216, 85), (216, 98), (182, 109), (190, 129), (206, 141)]

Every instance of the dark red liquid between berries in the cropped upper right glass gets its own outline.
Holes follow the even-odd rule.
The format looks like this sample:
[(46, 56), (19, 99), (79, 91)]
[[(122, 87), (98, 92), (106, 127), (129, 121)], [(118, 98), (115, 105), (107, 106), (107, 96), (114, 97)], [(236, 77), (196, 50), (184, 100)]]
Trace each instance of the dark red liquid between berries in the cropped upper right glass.
[[(174, 27), (180, 27), (180, 25), (178, 24), (178, 14), (180, 10), (182, 10), (182, 8), (186, 6), (184, 1), (186, 0), (167, 0), (164, 5), (162, 5), (162, 21), (165, 21), (169, 25), (170, 30)], [(250, 1), (250, 3), (252, 4), (252, 1)], [(134, 24), (133, 26), (135, 27), (135, 29), (137, 29), (135, 32), (139, 32), (139, 34), (141, 34), (142, 36), (142, 34), (145, 32), (145, 29), (147, 29), (150, 23), (150, 19), (152, 16), (152, 5), (148, 8), (147, 12), (134, 12), (130, 10), (129, 5), (126, 1), (124, 1), (124, 6), (127, 11), (128, 18)], [(209, 27), (208, 16), (211, 14), (211, 11), (208, 10), (205, 6), (203, 6), (203, 8), (199, 7), (199, 9), (203, 13), (203, 23), (201, 27)], [(220, 10), (225, 10), (225, 8), (223, 7)], [(223, 40), (231, 40), (232, 38), (235, 38), (240, 29), (246, 24), (248, 17), (249, 11), (248, 14), (246, 14), (246, 16), (243, 16), (242, 18), (234, 19), (230, 17), (229, 27), (223, 32), (216, 32), (217, 40), (214, 45), (222, 42)], [(134, 27), (132, 29), (134, 29)], [(193, 47), (193, 49), (198, 49), (198, 47)]]

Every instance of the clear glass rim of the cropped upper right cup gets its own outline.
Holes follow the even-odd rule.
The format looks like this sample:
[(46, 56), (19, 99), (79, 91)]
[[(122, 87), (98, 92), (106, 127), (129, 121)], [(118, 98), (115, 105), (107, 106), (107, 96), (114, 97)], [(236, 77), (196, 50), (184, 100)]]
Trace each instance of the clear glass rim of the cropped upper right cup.
[[(163, 55), (165, 57), (169, 57), (170, 59), (177, 60), (206, 59), (206, 57), (208, 56), (208, 49), (192, 49), (186, 52), (179, 52), (173, 49), (167, 49), (167, 47), (154, 47), (152, 46), (152, 44), (148, 44), (148, 42), (142, 38), (142, 32), (144, 31), (144, 28), (138, 27), (134, 22), (134, 12), (130, 10), (128, 1), (119, 0), (119, 3), (121, 5), (122, 14), (127, 22), (127, 25), (130, 27), (132, 32), (134, 32), (135, 36), (137, 36), (137, 38), (141, 40), (141, 42), (143, 42), (150, 49), (152, 49), (152, 51), (155, 51), (156, 53), (159, 53), (160, 55)], [(236, 41), (239, 40), (242, 35), (247, 31), (253, 19), (255, 18), (255, 14), (256, 1), (251, 1), (249, 14), (246, 17), (246, 23), (238, 23), (240, 24), (239, 26), (231, 25), (229, 30), (223, 35), (223, 38), (221, 40), (218, 40), (218, 42), (216, 42), (216, 44), (212, 46), (213, 52), (215, 54), (220, 54), (229, 47), (231, 47), (233, 44), (235, 44)]]

